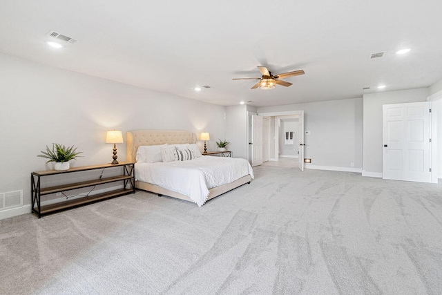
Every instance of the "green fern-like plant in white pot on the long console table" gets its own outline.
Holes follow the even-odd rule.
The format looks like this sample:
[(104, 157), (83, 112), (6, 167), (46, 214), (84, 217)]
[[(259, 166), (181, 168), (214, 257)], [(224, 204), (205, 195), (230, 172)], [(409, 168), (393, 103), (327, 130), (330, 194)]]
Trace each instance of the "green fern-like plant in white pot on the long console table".
[(74, 146), (64, 146), (64, 144), (52, 144), (52, 150), (46, 146), (46, 151), (40, 151), (41, 155), (37, 157), (49, 159), (46, 163), (55, 162), (54, 169), (56, 171), (64, 171), (69, 169), (69, 161), (77, 160), (77, 157), (81, 157), (77, 152), (77, 148)]

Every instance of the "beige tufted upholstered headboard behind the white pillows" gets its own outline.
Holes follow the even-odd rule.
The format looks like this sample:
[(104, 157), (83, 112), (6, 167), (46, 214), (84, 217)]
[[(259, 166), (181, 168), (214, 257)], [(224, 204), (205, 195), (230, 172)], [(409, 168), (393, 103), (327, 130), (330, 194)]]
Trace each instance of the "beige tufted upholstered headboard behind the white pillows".
[(138, 146), (194, 144), (196, 134), (181, 130), (133, 130), (126, 132), (126, 161), (135, 162)]

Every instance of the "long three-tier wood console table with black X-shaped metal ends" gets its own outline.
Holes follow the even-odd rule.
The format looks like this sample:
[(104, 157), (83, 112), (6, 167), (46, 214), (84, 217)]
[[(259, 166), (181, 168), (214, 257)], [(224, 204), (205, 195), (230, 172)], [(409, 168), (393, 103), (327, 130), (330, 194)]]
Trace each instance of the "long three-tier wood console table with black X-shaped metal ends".
[[(114, 167), (122, 167), (122, 173), (117, 176), (102, 178), (100, 175), (98, 179), (86, 180), (75, 183), (68, 183), (57, 185), (55, 187), (42, 187), (42, 178), (49, 175), (64, 175), (66, 173), (81, 173), (84, 171), (97, 170), (97, 169), (109, 169)], [(104, 171), (104, 170), (103, 170)], [(135, 193), (135, 171), (134, 163), (122, 162), (119, 164), (102, 164), (95, 166), (83, 166), (78, 168), (68, 169), (66, 171), (40, 171), (30, 173), (31, 181), (31, 207), (32, 213), (36, 213), (39, 218), (47, 213), (55, 211), (61, 211), (70, 207), (79, 206), (81, 204), (88, 204), (90, 202), (96, 202), (98, 200), (104, 200), (106, 198), (113, 198), (117, 196), (123, 196), (127, 193)], [(95, 187), (95, 185), (119, 182), (123, 183), (122, 189), (114, 189), (112, 191), (106, 191), (104, 193), (97, 193), (94, 195), (87, 195), (82, 198), (74, 200), (66, 200), (64, 202), (57, 202), (55, 204), (47, 204), (41, 206), (41, 196), (49, 195), (50, 193), (61, 193), (64, 191), (70, 191), (73, 189), (81, 189), (83, 187)]]

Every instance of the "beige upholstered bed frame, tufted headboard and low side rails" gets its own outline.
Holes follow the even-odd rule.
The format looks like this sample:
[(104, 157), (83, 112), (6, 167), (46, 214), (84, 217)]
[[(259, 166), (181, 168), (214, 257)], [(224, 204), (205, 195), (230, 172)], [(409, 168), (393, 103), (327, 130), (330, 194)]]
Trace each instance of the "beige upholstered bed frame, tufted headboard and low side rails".
[[(126, 132), (126, 161), (135, 161), (137, 155), (138, 146), (150, 146), (156, 144), (195, 144), (196, 134), (189, 131), (175, 131), (175, 130), (134, 130)], [(210, 157), (210, 156), (204, 156)], [(135, 164), (136, 165), (136, 164)], [(245, 175), (242, 178), (235, 180), (229, 184), (224, 184), (220, 187), (214, 187), (209, 189), (209, 197), (207, 200), (220, 196), (222, 193), (231, 191), (236, 187), (240, 187), (242, 184), (250, 183), (251, 175)], [(164, 187), (158, 187), (155, 184), (147, 182), (140, 182), (135, 180), (135, 187), (144, 191), (151, 191), (157, 193), (158, 196), (171, 196), (173, 198), (179, 198), (182, 200), (190, 201), (191, 198), (183, 195), (182, 193), (176, 193)]]

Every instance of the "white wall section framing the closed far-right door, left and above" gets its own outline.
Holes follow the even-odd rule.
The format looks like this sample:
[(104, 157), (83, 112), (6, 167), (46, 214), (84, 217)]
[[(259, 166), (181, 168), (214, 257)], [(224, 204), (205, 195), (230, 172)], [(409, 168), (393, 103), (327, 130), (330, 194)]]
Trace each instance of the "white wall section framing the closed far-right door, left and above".
[(363, 98), (363, 175), (382, 177), (382, 106), (425, 102), (428, 88), (364, 95)]

